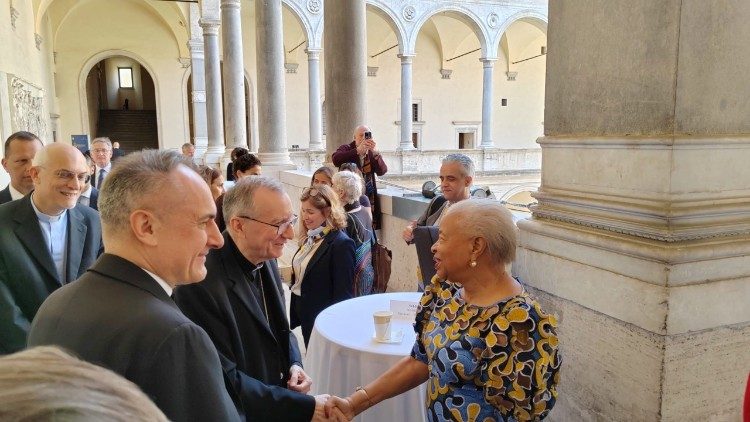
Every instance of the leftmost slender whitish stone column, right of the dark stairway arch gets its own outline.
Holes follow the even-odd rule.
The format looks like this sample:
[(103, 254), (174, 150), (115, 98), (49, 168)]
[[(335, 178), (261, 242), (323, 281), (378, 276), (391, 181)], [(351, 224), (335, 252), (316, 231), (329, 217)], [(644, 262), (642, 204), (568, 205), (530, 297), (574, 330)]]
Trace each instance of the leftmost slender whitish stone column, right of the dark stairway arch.
[(197, 3), (190, 4), (190, 49), (191, 80), (193, 91), (190, 100), (193, 104), (193, 144), (195, 155), (202, 158), (208, 149), (208, 129), (206, 121), (206, 68), (203, 56), (203, 33), (200, 27), (200, 11)]

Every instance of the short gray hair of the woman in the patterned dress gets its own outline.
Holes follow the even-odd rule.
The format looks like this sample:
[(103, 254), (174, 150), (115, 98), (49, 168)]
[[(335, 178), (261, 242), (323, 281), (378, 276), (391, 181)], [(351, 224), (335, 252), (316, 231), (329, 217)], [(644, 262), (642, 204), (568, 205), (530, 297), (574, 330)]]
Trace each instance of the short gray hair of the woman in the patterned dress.
[(469, 199), (448, 208), (447, 216), (463, 220), (461, 232), (468, 237), (481, 237), (495, 262), (509, 264), (516, 259), (517, 231), (513, 214), (494, 199)]

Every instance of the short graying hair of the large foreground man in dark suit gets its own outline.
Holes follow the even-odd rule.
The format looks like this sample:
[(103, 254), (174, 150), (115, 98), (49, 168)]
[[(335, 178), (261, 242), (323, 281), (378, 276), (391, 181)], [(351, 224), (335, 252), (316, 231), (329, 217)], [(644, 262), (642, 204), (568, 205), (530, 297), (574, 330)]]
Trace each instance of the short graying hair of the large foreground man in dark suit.
[(130, 227), (130, 214), (143, 208), (144, 198), (169, 189), (167, 176), (181, 165), (196, 169), (177, 151), (145, 150), (117, 160), (99, 190), (102, 225), (116, 231)]

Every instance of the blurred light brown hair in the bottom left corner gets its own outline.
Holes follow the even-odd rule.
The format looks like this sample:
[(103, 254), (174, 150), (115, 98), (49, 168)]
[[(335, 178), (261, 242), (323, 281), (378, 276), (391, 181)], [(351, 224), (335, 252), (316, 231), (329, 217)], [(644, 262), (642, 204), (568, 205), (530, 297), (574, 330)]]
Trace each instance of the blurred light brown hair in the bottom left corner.
[(0, 420), (166, 422), (132, 382), (56, 347), (0, 358)]

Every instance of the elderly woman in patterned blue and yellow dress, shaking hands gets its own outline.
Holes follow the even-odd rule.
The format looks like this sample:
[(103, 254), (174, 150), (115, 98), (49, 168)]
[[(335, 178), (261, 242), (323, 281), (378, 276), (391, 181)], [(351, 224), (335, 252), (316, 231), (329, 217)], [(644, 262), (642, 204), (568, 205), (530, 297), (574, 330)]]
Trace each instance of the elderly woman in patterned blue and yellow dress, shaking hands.
[(352, 418), (427, 383), (430, 421), (543, 419), (557, 399), (557, 322), (506, 271), (516, 228), (496, 201), (461, 201), (446, 212), (433, 246), (410, 357), (349, 397), (326, 405)]

